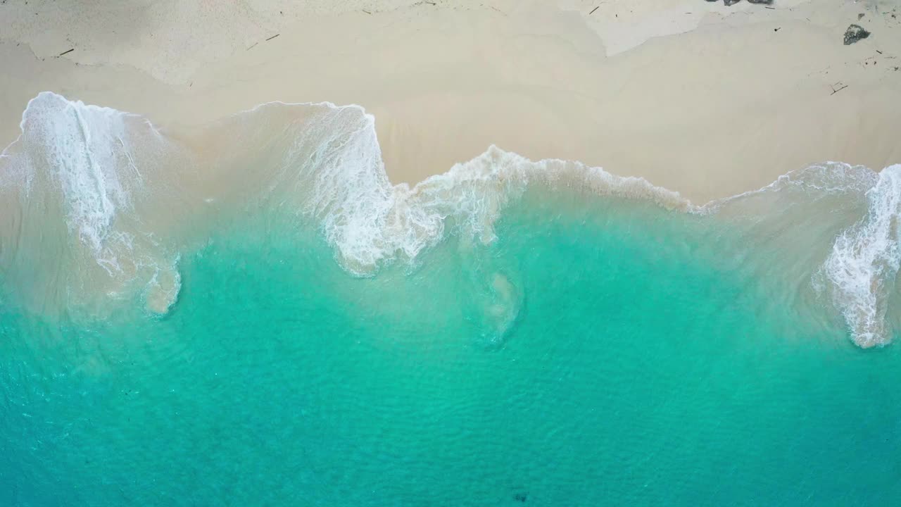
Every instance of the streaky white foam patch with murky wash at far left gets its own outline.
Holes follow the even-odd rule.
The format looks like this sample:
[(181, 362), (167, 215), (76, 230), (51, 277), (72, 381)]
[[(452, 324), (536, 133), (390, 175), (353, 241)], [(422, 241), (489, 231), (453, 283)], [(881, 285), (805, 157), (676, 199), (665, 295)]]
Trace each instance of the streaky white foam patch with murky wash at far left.
[[(32, 230), (2, 231), (0, 239), (22, 256), (58, 249), (47, 256), (56, 265), (31, 268), (64, 273), (59, 287), (49, 288), (71, 295), (60, 304), (83, 302), (92, 291), (121, 295), (149, 276), (142, 273), (156, 272), (158, 244), (134, 209), (135, 198), (148, 190), (142, 171), (154, 169), (148, 153), (166, 144), (152, 125), (139, 115), (42, 92), (25, 108), (20, 127), (0, 158), (0, 173), (4, 198), (19, 202), (21, 226)], [(51, 237), (58, 220), (68, 237)]]

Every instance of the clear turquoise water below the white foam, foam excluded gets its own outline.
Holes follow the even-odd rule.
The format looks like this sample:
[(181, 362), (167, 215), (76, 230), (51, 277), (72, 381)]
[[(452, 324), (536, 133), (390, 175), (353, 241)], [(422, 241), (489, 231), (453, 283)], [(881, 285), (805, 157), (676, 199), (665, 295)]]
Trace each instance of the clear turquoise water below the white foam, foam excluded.
[(530, 184), (490, 241), (449, 214), (366, 276), (273, 194), (185, 217), (163, 312), (141, 270), (114, 296), (62, 272), (88, 265), (71, 226), (62, 285), (25, 289), (57, 240), (16, 205), (0, 504), (896, 505), (898, 347), (855, 345), (818, 289), (836, 238), (878, 223), (848, 187), (685, 213)]

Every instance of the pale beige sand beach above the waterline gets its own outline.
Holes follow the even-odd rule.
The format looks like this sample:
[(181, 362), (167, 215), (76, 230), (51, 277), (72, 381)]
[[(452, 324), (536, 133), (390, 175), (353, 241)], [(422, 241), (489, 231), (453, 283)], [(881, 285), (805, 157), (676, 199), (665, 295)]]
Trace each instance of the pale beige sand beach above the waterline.
[[(394, 181), (492, 143), (640, 175), (696, 202), (815, 161), (901, 162), (901, 5), (771, 7), (6, 0), (0, 144), (51, 90), (163, 128), (273, 100), (359, 104), (376, 116)], [(872, 35), (843, 45), (851, 23)]]

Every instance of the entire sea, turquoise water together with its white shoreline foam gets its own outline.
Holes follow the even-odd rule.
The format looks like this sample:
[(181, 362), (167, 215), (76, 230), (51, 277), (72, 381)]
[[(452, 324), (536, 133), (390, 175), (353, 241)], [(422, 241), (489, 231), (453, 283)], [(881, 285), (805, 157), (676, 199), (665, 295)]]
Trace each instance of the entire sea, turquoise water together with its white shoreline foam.
[(700, 206), (358, 106), (42, 93), (0, 156), (0, 505), (899, 505), (901, 166)]

